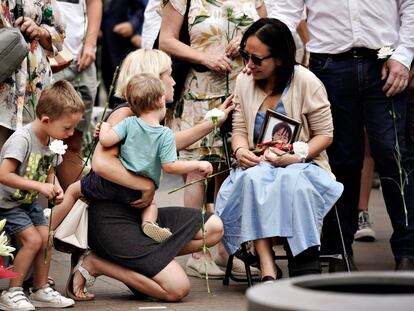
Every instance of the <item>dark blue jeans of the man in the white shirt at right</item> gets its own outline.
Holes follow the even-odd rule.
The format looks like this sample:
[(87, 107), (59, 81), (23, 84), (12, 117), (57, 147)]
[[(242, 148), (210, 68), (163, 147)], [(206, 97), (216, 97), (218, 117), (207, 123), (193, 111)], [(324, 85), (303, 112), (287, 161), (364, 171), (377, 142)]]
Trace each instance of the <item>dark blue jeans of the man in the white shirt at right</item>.
[[(382, 91), (383, 61), (375, 57), (311, 54), (310, 69), (324, 83), (331, 102), (334, 140), (328, 148), (329, 161), (344, 192), (337, 202), (346, 249), (352, 255), (352, 242), (358, 227), (358, 201), (362, 161), (364, 157), (364, 127), (371, 154), (381, 177), (385, 204), (394, 232), (391, 247), (395, 259), (414, 259), (414, 182), (407, 177), (403, 187), (408, 211), (404, 212), (400, 174), (396, 160), (396, 138), (401, 152), (400, 163), (409, 173), (412, 169), (412, 144), (408, 138), (407, 92), (387, 98)], [(394, 108), (396, 122), (392, 118)], [(341, 251), (334, 209), (326, 216), (323, 226), (322, 253)]]

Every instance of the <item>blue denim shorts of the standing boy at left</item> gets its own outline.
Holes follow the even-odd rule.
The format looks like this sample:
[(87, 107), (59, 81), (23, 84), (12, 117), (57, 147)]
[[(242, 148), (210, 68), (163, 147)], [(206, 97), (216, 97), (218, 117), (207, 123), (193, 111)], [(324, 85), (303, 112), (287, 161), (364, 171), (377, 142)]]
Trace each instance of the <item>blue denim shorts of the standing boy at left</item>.
[(48, 225), (43, 208), (37, 202), (12, 208), (0, 208), (0, 219), (7, 219), (4, 229), (8, 235), (21, 232), (30, 226)]

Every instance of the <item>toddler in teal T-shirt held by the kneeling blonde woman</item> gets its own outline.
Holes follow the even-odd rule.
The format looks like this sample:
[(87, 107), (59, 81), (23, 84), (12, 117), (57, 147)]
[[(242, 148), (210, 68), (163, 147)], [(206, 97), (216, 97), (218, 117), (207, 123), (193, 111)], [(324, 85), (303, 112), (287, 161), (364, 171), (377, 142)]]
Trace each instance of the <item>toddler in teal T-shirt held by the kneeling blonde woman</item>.
[[(162, 82), (151, 74), (139, 74), (127, 85), (127, 101), (136, 116), (128, 117), (113, 128), (107, 122), (100, 127), (99, 142), (111, 147), (121, 142), (119, 158), (130, 171), (151, 178), (156, 188), (160, 183), (161, 168), (169, 174), (187, 174), (198, 170), (211, 174), (213, 167), (207, 161), (177, 161), (177, 150), (173, 132), (160, 122), (164, 119), (165, 90)], [(93, 176), (93, 175), (92, 175)], [(102, 179), (101, 179), (102, 180)], [(139, 193), (109, 181), (94, 182), (91, 175), (72, 184), (62, 203), (63, 209), (73, 206), (76, 198), (117, 200), (130, 203), (139, 198)], [(59, 208), (62, 208), (61, 206)], [(153, 240), (161, 243), (171, 236), (167, 228), (156, 224), (157, 206), (154, 202), (141, 212), (142, 230)]]

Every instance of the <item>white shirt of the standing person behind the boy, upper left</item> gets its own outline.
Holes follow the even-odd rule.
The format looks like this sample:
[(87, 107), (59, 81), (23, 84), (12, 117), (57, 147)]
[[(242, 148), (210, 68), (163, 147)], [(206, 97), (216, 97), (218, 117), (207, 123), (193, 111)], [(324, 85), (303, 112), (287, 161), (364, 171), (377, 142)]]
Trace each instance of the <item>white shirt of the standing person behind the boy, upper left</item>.
[(62, 0), (57, 3), (66, 24), (66, 38), (63, 44), (76, 57), (83, 47), (83, 39), (88, 29), (85, 0)]

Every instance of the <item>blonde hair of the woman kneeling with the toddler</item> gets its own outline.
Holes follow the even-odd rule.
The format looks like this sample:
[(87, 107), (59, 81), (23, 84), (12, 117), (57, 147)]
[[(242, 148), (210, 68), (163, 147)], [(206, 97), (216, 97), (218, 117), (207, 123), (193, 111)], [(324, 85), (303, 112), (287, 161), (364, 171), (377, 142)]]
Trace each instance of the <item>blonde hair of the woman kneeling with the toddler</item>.
[(163, 51), (139, 49), (127, 55), (121, 65), (115, 95), (126, 99), (126, 87), (131, 77), (151, 73), (160, 77), (171, 69), (171, 58)]

